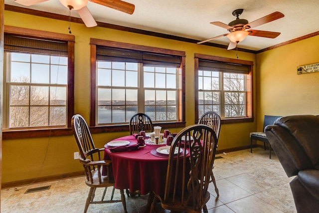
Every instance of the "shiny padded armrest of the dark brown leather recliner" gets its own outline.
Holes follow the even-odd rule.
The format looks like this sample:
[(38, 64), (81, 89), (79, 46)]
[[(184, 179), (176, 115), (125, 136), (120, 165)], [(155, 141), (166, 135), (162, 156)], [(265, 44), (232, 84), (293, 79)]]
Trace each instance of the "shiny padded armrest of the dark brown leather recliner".
[(319, 201), (319, 170), (303, 170), (298, 178), (312, 196)]

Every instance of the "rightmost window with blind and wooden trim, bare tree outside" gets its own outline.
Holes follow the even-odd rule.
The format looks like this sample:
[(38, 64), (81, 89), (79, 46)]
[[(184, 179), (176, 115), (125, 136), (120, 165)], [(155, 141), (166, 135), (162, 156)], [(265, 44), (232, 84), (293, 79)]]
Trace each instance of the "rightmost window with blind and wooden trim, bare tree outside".
[(252, 62), (195, 54), (196, 119), (214, 111), (222, 119), (252, 114)]

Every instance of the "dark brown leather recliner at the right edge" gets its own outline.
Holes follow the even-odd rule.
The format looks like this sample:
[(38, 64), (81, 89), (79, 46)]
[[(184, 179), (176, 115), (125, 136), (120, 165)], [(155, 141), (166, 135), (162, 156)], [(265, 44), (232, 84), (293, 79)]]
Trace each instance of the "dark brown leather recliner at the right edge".
[(292, 115), (265, 128), (290, 182), (298, 213), (319, 211), (319, 116)]

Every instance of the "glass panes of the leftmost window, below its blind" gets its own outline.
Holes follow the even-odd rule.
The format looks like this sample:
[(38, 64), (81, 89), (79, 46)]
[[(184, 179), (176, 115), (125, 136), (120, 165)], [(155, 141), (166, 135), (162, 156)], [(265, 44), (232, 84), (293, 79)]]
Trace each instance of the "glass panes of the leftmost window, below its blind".
[(66, 126), (67, 57), (6, 53), (8, 128)]

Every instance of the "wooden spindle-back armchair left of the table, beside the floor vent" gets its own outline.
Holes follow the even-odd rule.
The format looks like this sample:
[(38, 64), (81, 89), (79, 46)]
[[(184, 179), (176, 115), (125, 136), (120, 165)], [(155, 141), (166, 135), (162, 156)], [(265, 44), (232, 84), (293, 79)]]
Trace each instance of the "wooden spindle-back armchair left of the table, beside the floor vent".
[[(114, 180), (110, 176), (110, 171), (112, 171), (112, 162), (110, 160), (101, 160), (104, 157), (104, 148), (98, 149), (95, 147), (89, 127), (81, 115), (74, 115), (72, 117), (72, 129), (79, 147), (79, 161), (84, 167), (85, 172), (85, 184), (90, 187), (89, 195), (86, 199), (84, 213), (87, 212), (90, 204), (106, 204), (106, 203), (117, 203), (122, 202), (124, 212), (126, 211), (126, 202), (124, 191), (120, 190), (121, 200), (113, 200), (114, 196)], [(94, 160), (97, 158), (97, 161)], [(102, 167), (107, 167), (107, 176), (102, 176)], [(107, 187), (113, 187), (111, 199), (104, 201), (105, 193)], [(95, 196), (96, 188), (105, 188), (101, 201), (93, 201)]]

